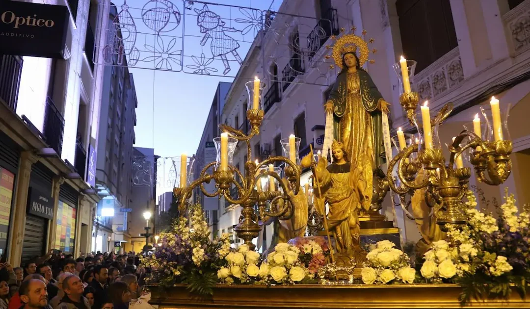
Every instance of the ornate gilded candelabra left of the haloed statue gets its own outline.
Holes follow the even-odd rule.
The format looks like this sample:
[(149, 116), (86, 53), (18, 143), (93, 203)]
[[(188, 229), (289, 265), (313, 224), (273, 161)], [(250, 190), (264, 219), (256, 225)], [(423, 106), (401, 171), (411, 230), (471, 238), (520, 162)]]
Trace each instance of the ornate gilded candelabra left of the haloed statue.
[[(294, 195), (298, 194), (300, 188), (301, 167), (297, 165), (297, 162), (293, 162), (284, 156), (271, 156), (260, 163), (251, 160), (252, 147), (250, 140), (254, 136), (260, 134), (260, 126), (264, 116), (262, 108), (262, 90), (266, 86), (256, 79), (255, 81), (246, 83), (246, 87), (249, 92), (249, 102), (254, 103), (249, 106), (250, 108), (246, 111), (246, 117), (251, 125), (250, 133), (245, 134), (243, 131), (234, 129), (228, 125), (219, 125), (220, 130), (223, 131), (223, 133), (228, 134), (228, 138), (233, 139), (234, 141), (234, 147), (229, 149), (229, 151), (233, 153), (235, 145), (238, 142), (246, 143), (248, 152), (247, 157), (249, 159), (245, 162), (244, 174), (230, 164), (231, 162), (228, 162), (228, 166), (223, 169), (222, 164), (219, 164), (220, 157), (222, 157), (223, 154), (218, 152), (218, 160), (207, 164), (204, 169), (202, 169), (198, 179), (191, 182), (187, 187), (175, 188), (173, 193), (178, 200), (179, 211), (181, 214), (187, 206), (187, 201), (191, 198), (193, 189), (196, 187), (199, 187), (202, 193), (207, 197), (219, 197), (219, 199), (220, 197), (224, 197), (230, 204), (241, 205), (241, 216), (234, 231), (236, 232), (237, 237), (243, 239), (244, 243), (248, 244), (251, 250), (254, 250), (255, 245), (252, 243), (252, 239), (258, 237), (261, 230), (258, 224), (259, 217), (278, 217), (281, 220), (287, 220), (293, 216), (294, 204), (289, 193), (293, 191)], [(297, 151), (297, 149), (295, 150)], [(220, 151), (222, 151), (222, 149)], [(231, 154), (228, 154), (228, 156), (231, 157)], [(297, 158), (297, 160), (299, 159)], [(280, 179), (278, 172), (267, 169), (269, 164), (278, 162), (285, 163), (284, 173), (286, 178), (283, 181)], [(209, 173), (208, 171), (212, 169), (213, 172)], [(269, 181), (272, 179), (276, 180), (281, 190), (278, 190), (278, 187), (276, 186), (277, 189), (262, 189), (261, 183), (258, 182), (264, 178), (269, 179)], [(204, 187), (204, 184), (209, 183), (211, 180), (215, 181), (216, 189), (214, 192), (208, 192)], [(231, 195), (230, 188), (233, 185), (237, 189), (237, 197)]]

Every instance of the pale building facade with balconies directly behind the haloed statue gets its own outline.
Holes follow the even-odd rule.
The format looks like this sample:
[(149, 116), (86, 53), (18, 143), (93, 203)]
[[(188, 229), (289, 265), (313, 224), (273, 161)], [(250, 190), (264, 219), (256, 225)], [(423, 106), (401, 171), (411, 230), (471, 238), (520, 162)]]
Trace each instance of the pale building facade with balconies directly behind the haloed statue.
[[(327, 46), (333, 45), (332, 35), (348, 34), (356, 28), (356, 34), (366, 30), (365, 38), (375, 39), (370, 45), (377, 50), (370, 54), (375, 63), (364, 68), (391, 103), (391, 135), (398, 127), (413, 129), (399, 104), (400, 85), (392, 68), (401, 55), (417, 61), (412, 87), (422, 100), (429, 100), (432, 112), (447, 102), (454, 103), (455, 112), (441, 127), (440, 140), (449, 143), (480, 112), (479, 107), (489, 107), (492, 95), (504, 106), (511, 103), (514, 169), (505, 185), (519, 205), (530, 201), (524, 172), (530, 162), (530, 127), (523, 116), (530, 109), (530, 45), (523, 30), (528, 24), (529, 0), (294, 0), (284, 1), (278, 12), (269, 14), (273, 19), (266, 21), (268, 27), (251, 47), (223, 109), (222, 122), (248, 130), (244, 84), (254, 76), (267, 82), (261, 135), (251, 141), (253, 159), (282, 155), (280, 140), (290, 134), (302, 139), (301, 156), (308, 152), (309, 144), (321, 147), (323, 104), (337, 76), (325, 61), (331, 55)], [(234, 154), (234, 164), (240, 170), (248, 159), (243, 146)], [(447, 149), (444, 151), (447, 157)], [(499, 201), (505, 187), (489, 187), (476, 182), (474, 176), (471, 185), (481, 189), (488, 200)], [(421, 237), (401, 209), (396, 209), (393, 218), (390, 195), (383, 206), (383, 214), (395, 219), (407, 240)], [(226, 206), (220, 230), (228, 231), (237, 224), (238, 216), (230, 211), (238, 208)]]

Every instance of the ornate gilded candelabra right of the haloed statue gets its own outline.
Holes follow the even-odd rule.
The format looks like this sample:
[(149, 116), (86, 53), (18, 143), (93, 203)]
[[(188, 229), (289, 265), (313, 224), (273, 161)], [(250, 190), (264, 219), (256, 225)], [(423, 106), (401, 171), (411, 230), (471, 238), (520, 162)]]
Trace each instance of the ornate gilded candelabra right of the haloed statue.
[[(419, 95), (416, 92), (404, 92), (400, 96), (401, 106), (407, 113), (410, 123), (416, 127), (418, 127), (416, 116), (418, 101)], [(439, 126), (452, 110), (453, 104), (447, 103), (434, 119), (430, 119), (434, 138), (438, 138)], [(420, 132), (419, 127), (418, 132)], [(424, 131), (423, 135), (426, 134)], [(463, 142), (465, 143), (462, 145)], [(434, 144), (426, 148), (424, 138), (420, 138), (418, 144), (412, 143), (401, 149), (388, 164), (387, 179), (391, 180), (390, 187), (400, 195), (402, 203), (406, 195), (412, 196), (414, 191), (425, 188), (425, 199), (430, 207), (434, 207), (436, 222), (441, 228), (446, 224), (463, 224), (466, 220), (462, 211), (464, 208), (462, 199), (468, 189), (471, 169), (462, 166), (455, 168), (456, 158), (462, 156), (465, 151), (470, 151), (470, 163), (478, 180), (498, 186), (506, 181), (511, 171), (509, 155), (512, 151), (512, 142), (500, 139), (488, 142), (481, 136), (464, 130), (453, 139), (451, 145), (448, 145), (450, 152), (448, 164), (445, 163), (441, 146)], [(413, 155), (414, 153), (416, 155)], [(398, 164), (399, 184), (395, 183), (392, 176), (396, 164)], [(416, 181), (420, 172), (424, 172), (425, 177)]]

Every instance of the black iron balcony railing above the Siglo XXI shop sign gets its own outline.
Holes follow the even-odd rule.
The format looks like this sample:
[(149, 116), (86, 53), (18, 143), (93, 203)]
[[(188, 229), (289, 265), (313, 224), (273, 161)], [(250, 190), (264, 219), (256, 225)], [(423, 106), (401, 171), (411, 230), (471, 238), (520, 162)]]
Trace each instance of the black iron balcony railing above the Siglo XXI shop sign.
[(48, 96), (46, 99), (46, 111), (44, 114), (44, 128), (42, 134), (46, 137), (46, 143), (60, 156), (63, 149), (63, 134), (65, 119)]

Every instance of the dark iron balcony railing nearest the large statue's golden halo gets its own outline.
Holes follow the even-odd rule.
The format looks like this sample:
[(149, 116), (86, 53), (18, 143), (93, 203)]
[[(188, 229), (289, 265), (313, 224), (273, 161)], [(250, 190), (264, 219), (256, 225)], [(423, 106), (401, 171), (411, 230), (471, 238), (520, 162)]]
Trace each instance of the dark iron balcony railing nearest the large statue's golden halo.
[(337, 10), (330, 8), (323, 14), (322, 19), (317, 22), (315, 28), (307, 36), (307, 49), (309, 60), (315, 56), (316, 52), (332, 36), (339, 34), (339, 18)]

